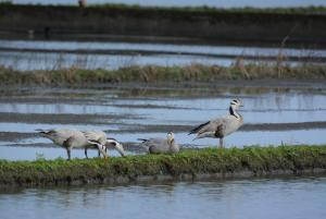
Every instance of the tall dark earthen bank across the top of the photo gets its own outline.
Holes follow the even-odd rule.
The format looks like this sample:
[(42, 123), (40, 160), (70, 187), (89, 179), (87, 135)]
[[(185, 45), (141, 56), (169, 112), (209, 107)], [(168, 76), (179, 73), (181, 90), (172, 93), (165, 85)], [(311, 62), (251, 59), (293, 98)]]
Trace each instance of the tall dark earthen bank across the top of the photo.
[[(139, 7), (0, 5), (3, 38), (325, 46), (325, 9), (216, 10)], [(42, 17), (42, 19), (39, 19)], [(10, 26), (8, 24), (11, 24)]]

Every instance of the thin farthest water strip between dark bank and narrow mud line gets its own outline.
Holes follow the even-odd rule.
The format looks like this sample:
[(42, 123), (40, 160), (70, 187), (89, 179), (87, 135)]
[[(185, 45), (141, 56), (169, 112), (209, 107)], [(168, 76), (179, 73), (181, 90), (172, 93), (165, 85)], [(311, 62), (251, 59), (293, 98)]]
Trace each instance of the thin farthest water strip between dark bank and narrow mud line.
[[(2, 48), (12, 49), (42, 49), (42, 50), (90, 50), (90, 51), (153, 51), (153, 52), (179, 52), (197, 54), (234, 54), (234, 56), (278, 56), (279, 48), (241, 47), (241, 46), (198, 46), (198, 45), (175, 45), (175, 44), (148, 44), (148, 42), (97, 42), (97, 41), (45, 41), (45, 40), (0, 40)], [(284, 56), (297, 57), (326, 57), (323, 49), (296, 49), (284, 48)]]

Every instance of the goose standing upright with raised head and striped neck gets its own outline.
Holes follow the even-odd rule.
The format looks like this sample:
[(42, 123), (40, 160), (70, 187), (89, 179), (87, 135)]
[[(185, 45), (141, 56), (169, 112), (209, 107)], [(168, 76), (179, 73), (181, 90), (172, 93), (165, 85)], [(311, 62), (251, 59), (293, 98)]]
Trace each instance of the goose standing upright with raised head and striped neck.
[(237, 112), (242, 107), (239, 99), (230, 101), (229, 114), (213, 119), (209, 122), (198, 125), (189, 132), (197, 134), (197, 138), (214, 137), (220, 138), (220, 147), (223, 147), (223, 138), (237, 131), (243, 124), (243, 118)]

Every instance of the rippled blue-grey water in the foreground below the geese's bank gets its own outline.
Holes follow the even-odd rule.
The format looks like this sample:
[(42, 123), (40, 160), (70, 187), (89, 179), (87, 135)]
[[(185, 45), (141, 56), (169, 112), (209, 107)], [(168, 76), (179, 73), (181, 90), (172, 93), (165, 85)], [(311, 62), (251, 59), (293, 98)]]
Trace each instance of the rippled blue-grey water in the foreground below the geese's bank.
[(0, 192), (1, 218), (325, 218), (326, 178)]

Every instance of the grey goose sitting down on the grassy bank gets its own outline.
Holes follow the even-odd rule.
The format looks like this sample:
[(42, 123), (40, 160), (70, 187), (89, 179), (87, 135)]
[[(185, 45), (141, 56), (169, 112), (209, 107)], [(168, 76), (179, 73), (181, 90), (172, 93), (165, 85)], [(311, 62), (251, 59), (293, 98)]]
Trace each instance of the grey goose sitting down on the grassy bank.
[(174, 134), (172, 132), (167, 133), (166, 138), (138, 138), (142, 141), (141, 146), (147, 148), (149, 154), (161, 154), (171, 153), (176, 154), (179, 151), (179, 145), (176, 144), (174, 139)]

